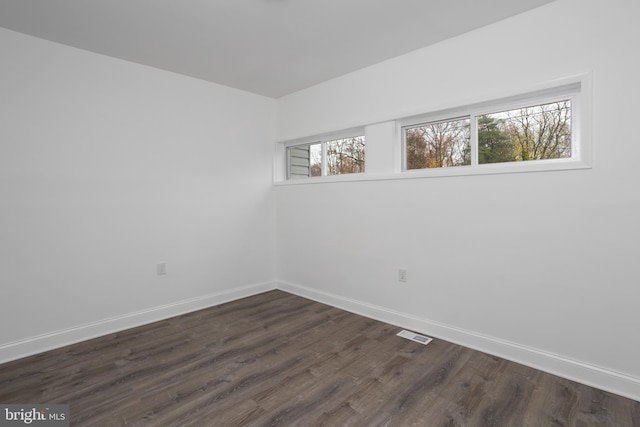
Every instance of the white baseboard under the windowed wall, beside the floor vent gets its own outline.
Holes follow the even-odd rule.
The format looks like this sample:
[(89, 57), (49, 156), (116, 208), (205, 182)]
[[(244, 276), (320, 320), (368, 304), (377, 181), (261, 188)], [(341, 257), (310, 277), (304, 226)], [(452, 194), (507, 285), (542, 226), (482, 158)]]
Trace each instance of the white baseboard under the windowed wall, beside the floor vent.
[(278, 282), (277, 288), (317, 302), (341, 308), (371, 319), (437, 337), (484, 353), (502, 357), (559, 377), (609, 391), (640, 401), (640, 378), (593, 366), (562, 355), (527, 347), (499, 338), (456, 328), (433, 320), (400, 313), (340, 295), (318, 291), (288, 282)]

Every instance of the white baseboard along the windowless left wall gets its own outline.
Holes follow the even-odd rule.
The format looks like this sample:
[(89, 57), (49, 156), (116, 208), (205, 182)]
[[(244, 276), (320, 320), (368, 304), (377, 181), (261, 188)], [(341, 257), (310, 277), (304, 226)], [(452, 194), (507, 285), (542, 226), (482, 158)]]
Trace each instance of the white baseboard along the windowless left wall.
[(147, 323), (157, 322), (170, 317), (223, 304), (240, 298), (249, 297), (276, 289), (275, 282), (257, 283), (221, 292), (203, 295), (197, 298), (178, 301), (159, 307), (129, 313), (122, 316), (99, 320), (76, 327), (58, 330), (20, 341), (0, 344), (0, 363), (31, 356), (43, 351), (63, 347), (102, 335), (123, 331)]

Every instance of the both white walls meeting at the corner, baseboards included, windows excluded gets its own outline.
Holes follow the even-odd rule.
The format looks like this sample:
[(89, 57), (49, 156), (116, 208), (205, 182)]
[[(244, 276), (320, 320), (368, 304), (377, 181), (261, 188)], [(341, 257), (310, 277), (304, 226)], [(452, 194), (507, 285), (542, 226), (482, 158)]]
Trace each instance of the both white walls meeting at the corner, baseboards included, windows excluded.
[[(0, 361), (277, 276), (640, 399), (639, 14), (558, 0), (277, 105), (0, 29)], [(271, 188), (276, 108), (286, 140), (584, 72), (593, 169)]]

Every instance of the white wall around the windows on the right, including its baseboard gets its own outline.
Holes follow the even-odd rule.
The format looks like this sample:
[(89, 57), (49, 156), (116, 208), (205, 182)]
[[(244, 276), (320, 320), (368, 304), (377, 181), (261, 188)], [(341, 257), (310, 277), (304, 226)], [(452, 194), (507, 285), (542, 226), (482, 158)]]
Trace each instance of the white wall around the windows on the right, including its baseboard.
[(558, 0), (280, 99), (288, 140), (593, 82), (592, 169), (276, 187), (281, 286), (640, 398), (638, 16)]

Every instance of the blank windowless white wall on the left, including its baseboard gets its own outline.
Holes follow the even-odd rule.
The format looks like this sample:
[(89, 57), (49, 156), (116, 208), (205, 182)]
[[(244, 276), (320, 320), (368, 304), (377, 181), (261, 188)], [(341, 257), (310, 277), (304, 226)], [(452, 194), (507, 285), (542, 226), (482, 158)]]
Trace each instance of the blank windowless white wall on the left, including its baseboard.
[(0, 360), (273, 287), (273, 99), (3, 29), (0, 54)]

